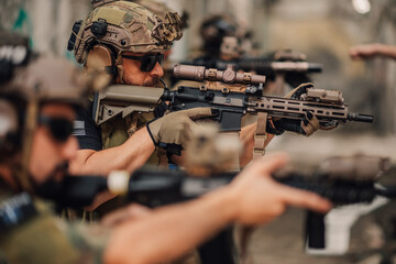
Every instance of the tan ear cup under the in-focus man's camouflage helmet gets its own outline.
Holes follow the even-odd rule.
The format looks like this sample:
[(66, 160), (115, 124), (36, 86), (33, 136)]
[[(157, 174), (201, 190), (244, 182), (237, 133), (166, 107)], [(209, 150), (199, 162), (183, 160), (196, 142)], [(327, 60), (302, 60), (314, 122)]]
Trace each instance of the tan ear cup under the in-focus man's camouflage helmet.
[(105, 70), (110, 75), (111, 79), (116, 79), (118, 76), (116, 56), (113, 52), (105, 45), (95, 45), (92, 50), (89, 51), (85, 67), (87, 69)]

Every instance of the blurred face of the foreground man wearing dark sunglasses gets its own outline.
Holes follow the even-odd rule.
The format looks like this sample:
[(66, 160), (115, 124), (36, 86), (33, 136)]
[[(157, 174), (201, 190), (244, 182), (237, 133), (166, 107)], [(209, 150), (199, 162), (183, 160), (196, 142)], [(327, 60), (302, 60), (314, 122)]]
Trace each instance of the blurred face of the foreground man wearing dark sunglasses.
[(75, 117), (70, 106), (47, 103), (40, 117), (42, 121), (33, 135), (30, 160), (30, 174), (38, 185), (50, 177), (62, 179), (64, 172), (57, 168), (70, 161), (78, 150), (76, 138), (69, 136)]

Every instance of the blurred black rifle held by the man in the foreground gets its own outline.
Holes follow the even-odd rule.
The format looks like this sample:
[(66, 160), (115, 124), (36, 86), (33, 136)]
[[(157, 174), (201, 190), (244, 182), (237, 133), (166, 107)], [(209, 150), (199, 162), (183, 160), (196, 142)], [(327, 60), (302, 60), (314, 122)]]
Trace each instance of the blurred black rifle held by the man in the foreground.
[[(381, 172), (389, 167), (387, 158), (370, 156), (332, 157), (310, 173), (278, 172), (274, 178), (295, 188), (316, 193), (334, 206), (370, 204), (377, 196), (396, 198), (396, 186), (377, 184)], [(66, 177), (56, 201), (63, 207), (91, 205), (97, 194), (110, 190), (124, 195), (128, 200), (148, 207), (158, 207), (199, 197), (229, 184), (237, 173), (218, 174), (209, 178), (191, 177), (184, 170), (138, 170), (131, 176), (113, 173), (99, 176)], [(308, 212), (307, 238), (311, 249), (323, 249), (323, 215)]]

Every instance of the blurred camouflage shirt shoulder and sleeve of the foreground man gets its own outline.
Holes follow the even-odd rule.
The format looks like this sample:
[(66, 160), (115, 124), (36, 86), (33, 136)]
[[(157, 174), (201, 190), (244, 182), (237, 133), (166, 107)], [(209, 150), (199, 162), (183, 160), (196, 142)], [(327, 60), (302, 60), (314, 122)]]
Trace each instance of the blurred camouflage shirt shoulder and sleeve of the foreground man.
[(109, 231), (56, 218), (30, 195), (0, 187), (0, 263), (101, 263)]

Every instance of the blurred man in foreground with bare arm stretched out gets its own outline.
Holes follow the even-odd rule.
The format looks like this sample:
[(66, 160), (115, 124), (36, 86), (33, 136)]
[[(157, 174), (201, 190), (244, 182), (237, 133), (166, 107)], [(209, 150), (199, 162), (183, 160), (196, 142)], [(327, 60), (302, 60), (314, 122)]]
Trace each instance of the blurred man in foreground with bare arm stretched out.
[(0, 53), (1, 72), (8, 70), (0, 79), (2, 263), (158, 263), (180, 256), (229, 223), (266, 223), (287, 205), (330, 209), (319, 196), (271, 178), (286, 163), (278, 154), (256, 161), (229, 186), (190, 202), (150, 215), (131, 206), (108, 219), (106, 228), (68, 224), (53, 217), (38, 196), (58, 195), (66, 165), (76, 156), (74, 110), (88, 91), (87, 78), (54, 57), (38, 56), (15, 68), (26, 63), (28, 50), (0, 44), (7, 51)]

